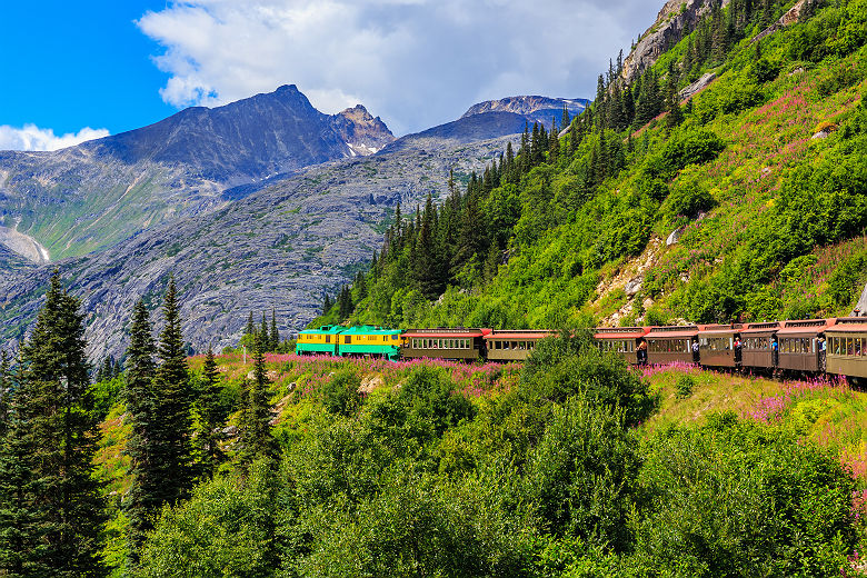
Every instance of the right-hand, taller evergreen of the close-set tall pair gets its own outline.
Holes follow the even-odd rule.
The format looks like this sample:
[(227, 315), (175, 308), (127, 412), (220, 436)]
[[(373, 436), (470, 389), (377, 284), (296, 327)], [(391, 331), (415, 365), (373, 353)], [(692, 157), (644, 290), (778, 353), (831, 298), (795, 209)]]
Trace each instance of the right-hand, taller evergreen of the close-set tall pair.
[(166, 326), (157, 346), (161, 363), (153, 380), (156, 431), (151, 441), (153, 459), (161, 469), (160, 505), (185, 499), (193, 480), (190, 444), (192, 396), (173, 277), (169, 279), (162, 317)]

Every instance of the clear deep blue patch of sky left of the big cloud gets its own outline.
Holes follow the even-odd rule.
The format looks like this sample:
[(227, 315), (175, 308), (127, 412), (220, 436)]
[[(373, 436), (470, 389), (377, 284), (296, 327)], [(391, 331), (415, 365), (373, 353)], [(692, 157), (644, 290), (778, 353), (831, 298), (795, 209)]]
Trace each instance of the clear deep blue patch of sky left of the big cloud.
[(176, 112), (159, 94), (167, 78), (151, 60), (159, 47), (134, 23), (165, 8), (165, 1), (4, 2), (0, 124), (117, 133)]

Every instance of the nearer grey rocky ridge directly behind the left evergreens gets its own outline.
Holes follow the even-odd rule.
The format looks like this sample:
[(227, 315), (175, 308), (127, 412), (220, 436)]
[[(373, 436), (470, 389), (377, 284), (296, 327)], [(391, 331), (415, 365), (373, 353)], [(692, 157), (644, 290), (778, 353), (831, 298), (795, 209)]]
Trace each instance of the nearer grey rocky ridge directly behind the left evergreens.
[(180, 291), (185, 336), (196, 350), (236, 345), (247, 316), (277, 312), (288, 335), (303, 328), (381, 249), (385, 222), (448, 195), (456, 179), (485, 167), (514, 137), (451, 148), (385, 150), (318, 165), (276, 179), (219, 210), (177, 218), (110, 248), (0, 279), (0, 343), (13, 347), (41, 306), (58, 267), (88, 313), (92, 359), (120, 357), (140, 297), (159, 306), (169, 273)]

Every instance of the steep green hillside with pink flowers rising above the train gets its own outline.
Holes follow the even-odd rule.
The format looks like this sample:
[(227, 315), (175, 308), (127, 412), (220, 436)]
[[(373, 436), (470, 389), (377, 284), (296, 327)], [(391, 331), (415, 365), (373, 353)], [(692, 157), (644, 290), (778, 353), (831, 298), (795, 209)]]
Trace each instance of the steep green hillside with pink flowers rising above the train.
[(591, 110), (534, 127), (466, 192), (392, 225), (328, 319), (353, 305), (352, 320), (401, 327), (848, 312), (867, 280), (867, 2), (811, 2), (750, 40), (791, 4), (708, 12), (630, 86), (612, 64)]

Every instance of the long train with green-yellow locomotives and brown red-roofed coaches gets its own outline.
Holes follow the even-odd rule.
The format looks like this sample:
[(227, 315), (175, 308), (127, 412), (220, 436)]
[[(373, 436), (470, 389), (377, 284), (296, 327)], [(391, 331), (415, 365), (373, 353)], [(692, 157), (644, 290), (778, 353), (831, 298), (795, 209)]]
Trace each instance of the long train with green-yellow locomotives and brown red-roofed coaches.
[[(386, 329), (325, 326), (298, 335), (299, 355), (521, 361), (546, 329)], [(630, 365), (697, 363), (768, 373), (867, 378), (867, 317), (730, 325), (611, 327), (594, 330), (602, 351)]]

